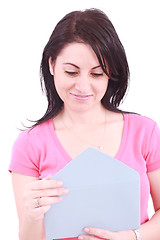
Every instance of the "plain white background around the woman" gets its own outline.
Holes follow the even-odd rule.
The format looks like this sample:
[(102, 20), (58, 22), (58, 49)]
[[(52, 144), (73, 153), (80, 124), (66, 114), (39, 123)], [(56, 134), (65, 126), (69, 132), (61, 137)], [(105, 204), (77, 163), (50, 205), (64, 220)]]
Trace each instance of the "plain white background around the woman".
[[(113, 22), (125, 47), (130, 89), (121, 108), (160, 124), (160, 14), (157, 0), (10, 0), (0, 4), (0, 214), (1, 236), (18, 239), (18, 219), (8, 165), (21, 121), (40, 118), (46, 100), (39, 83), (45, 44), (64, 14), (100, 8)], [(152, 206), (149, 204), (149, 214)]]

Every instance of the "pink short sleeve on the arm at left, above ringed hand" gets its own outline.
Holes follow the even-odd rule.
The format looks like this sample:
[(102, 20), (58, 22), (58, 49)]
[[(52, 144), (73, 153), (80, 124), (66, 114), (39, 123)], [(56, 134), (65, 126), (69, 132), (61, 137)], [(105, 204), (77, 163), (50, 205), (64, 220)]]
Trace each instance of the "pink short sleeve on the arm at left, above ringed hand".
[(8, 170), (39, 177), (38, 163), (29, 141), (28, 131), (21, 132), (14, 142)]

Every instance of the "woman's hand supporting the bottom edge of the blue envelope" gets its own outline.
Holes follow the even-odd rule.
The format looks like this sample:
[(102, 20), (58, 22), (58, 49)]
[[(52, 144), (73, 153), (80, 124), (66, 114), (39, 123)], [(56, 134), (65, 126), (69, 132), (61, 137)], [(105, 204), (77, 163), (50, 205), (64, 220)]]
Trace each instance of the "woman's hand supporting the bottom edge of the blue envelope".
[(136, 240), (136, 236), (132, 230), (111, 232), (104, 229), (87, 227), (84, 231), (88, 234), (80, 235), (78, 239), (80, 240)]

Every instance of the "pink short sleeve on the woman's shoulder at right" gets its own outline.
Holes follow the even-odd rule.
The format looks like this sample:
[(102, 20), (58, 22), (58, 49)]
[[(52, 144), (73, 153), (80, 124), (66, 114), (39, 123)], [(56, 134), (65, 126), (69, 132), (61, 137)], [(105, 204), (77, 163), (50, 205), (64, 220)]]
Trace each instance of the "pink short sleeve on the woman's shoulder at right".
[(147, 172), (152, 172), (160, 168), (160, 129), (156, 123), (150, 136), (146, 166)]

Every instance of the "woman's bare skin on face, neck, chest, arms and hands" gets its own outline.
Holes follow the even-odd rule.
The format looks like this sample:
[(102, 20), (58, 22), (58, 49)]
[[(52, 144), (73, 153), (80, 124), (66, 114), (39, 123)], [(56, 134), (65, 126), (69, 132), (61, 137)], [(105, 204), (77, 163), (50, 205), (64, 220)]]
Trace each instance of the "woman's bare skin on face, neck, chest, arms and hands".
[[(99, 66), (91, 47), (83, 43), (68, 44), (55, 62), (49, 58), (49, 68), (54, 75), (57, 92), (64, 101), (64, 109), (54, 118), (53, 124), (65, 150), (75, 157), (93, 143), (97, 145), (105, 129), (107, 134), (103, 136), (103, 151), (115, 156), (123, 134), (123, 116), (107, 111), (101, 104), (108, 87), (108, 77)], [(39, 180), (12, 172), (20, 240), (45, 240), (44, 213), (51, 204), (63, 201), (63, 195), (68, 194), (69, 190), (63, 188), (61, 181), (49, 180), (50, 177)], [(155, 214), (150, 221), (141, 225), (140, 231), (143, 240), (159, 240), (160, 170), (148, 173), (148, 179)], [(41, 197), (40, 207), (36, 206), (38, 197)], [(79, 236), (79, 239), (136, 240), (132, 230), (110, 232), (85, 226), (84, 231), (86, 235)]]

